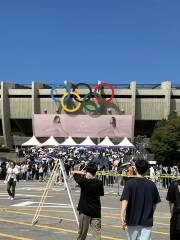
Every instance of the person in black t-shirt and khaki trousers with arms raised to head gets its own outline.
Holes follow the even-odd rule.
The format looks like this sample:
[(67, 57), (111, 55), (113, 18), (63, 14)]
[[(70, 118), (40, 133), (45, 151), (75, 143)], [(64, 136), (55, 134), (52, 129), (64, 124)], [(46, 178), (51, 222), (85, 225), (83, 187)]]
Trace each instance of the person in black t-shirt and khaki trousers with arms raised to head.
[(75, 181), (81, 188), (79, 211), (79, 232), (77, 240), (85, 240), (89, 226), (94, 240), (101, 239), (101, 202), (100, 197), (104, 196), (102, 181), (95, 178), (96, 165), (89, 163), (82, 171), (74, 171)]

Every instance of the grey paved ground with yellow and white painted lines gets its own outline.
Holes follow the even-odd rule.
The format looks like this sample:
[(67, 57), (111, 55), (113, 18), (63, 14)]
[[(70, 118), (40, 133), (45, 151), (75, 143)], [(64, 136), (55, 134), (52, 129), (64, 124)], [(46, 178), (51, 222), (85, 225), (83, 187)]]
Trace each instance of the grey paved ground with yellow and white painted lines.
[[(18, 183), (16, 199), (7, 199), (6, 185), (0, 182), (0, 239), (19, 240), (73, 240), (77, 236), (77, 225), (69, 205), (67, 192), (61, 186), (54, 186), (48, 194), (38, 223), (31, 221), (45, 183)], [(102, 239), (123, 240), (125, 232), (119, 221), (119, 196), (117, 190), (107, 187), (102, 198)], [(166, 190), (160, 190), (162, 203), (159, 204), (153, 228), (154, 240), (169, 239), (169, 208), (165, 200)], [(76, 201), (79, 189), (73, 190)], [(137, 206), (138, 207), (138, 206)], [(87, 238), (92, 239), (91, 236)]]

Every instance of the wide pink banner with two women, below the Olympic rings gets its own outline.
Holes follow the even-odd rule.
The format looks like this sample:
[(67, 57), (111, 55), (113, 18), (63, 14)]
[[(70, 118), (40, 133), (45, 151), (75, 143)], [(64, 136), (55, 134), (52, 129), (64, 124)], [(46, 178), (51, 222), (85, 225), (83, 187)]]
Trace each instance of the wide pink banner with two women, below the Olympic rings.
[(36, 137), (132, 137), (131, 115), (35, 114)]

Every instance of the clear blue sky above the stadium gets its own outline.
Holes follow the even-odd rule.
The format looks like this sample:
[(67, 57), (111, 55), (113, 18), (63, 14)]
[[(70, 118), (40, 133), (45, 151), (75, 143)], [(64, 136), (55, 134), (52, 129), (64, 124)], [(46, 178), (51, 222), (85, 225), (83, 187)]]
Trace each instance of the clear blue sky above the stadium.
[(180, 1), (0, 1), (0, 80), (65, 79), (180, 83)]

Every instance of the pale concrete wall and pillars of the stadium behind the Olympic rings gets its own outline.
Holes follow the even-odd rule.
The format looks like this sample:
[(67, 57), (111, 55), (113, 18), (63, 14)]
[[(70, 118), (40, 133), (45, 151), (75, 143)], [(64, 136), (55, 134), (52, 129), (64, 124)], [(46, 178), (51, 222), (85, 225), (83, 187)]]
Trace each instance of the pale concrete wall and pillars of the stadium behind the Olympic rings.
[[(88, 89), (80, 88), (78, 93), (85, 95)], [(57, 90), (62, 96), (65, 89)], [(111, 90), (105, 89), (105, 94), (111, 94)], [(0, 89), (0, 118), (2, 120), (3, 137), (0, 143), (11, 147), (21, 144), (26, 138), (12, 136), (10, 119), (32, 119), (34, 113), (56, 113), (58, 104), (55, 104), (50, 96), (50, 88), (44, 84), (32, 82), (32, 86), (24, 88), (15, 84), (1, 82)], [(108, 105), (104, 105), (105, 114), (132, 114), (135, 120), (161, 120), (167, 118), (172, 112), (180, 116), (180, 90), (174, 89), (170, 81), (162, 82), (158, 89), (138, 88), (136, 82), (130, 83), (129, 88), (115, 89), (115, 98)], [(61, 111), (60, 113), (65, 113)], [(81, 111), (76, 114), (86, 114)], [(66, 114), (66, 113), (65, 113)], [(133, 124), (134, 131), (134, 124)]]

